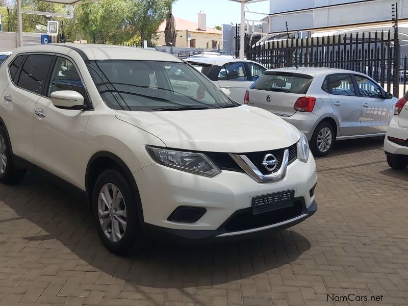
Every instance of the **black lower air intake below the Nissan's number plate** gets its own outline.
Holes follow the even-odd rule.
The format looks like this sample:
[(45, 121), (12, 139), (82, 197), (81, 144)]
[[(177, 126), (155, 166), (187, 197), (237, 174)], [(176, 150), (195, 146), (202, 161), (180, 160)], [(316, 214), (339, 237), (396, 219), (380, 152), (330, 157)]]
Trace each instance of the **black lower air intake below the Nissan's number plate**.
[(252, 208), (247, 208), (236, 212), (221, 227), (227, 232), (240, 232), (251, 230), (286, 221), (299, 216), (302, 213), (303, 201), (297, 198), (292, 207), (274, 210), (258, 215), (252, 213)]

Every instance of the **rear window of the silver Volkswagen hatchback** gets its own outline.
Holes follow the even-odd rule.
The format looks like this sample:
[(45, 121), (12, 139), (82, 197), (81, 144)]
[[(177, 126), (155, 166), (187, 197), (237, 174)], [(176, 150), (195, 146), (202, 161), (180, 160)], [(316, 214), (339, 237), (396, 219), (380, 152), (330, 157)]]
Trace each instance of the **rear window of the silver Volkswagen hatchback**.
[(299, 73), (265, 72), (252, 84), (252, 89), (305, 94), (313, 78)]

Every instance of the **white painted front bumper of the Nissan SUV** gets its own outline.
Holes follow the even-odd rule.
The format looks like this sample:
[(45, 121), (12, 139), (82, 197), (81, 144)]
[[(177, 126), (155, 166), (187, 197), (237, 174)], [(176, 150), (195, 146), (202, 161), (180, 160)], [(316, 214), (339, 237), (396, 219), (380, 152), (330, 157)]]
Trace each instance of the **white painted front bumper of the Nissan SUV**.
[[(142, 168), (134, 173), (134, 177), (146, 227), (151, 225), (195, 233), (210, 231), (209, 236), (218, 231), (217, 236), (222, 225), (236, 212), (251, 208), (253, 197), (293, 190), (294, 198), (301, 199), (302, 207), (307, 210), (314, 203), (314, 194), (311, 195), (310, 191), (317, 182), (312, 155), (307, 163), (294, 161), (282, 180), (270, 183), (258, 183), (241, 172), (223, 170), (214, 177), (205, 177), (160, 164)], [(205, 208), (206, 213), (193, 223), (169, 221), (171, 213), (181, 206)]]

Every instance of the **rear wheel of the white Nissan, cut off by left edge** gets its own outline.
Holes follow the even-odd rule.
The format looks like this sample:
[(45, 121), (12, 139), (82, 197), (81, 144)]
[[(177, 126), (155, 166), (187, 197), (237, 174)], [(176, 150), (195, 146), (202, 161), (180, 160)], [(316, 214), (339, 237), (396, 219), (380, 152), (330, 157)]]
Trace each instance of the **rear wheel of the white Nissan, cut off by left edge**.
[(6, 129), (0, 126), (0, 183), (13, 185), (24, 179), (25, 169), (14, 165), (10, 140)]

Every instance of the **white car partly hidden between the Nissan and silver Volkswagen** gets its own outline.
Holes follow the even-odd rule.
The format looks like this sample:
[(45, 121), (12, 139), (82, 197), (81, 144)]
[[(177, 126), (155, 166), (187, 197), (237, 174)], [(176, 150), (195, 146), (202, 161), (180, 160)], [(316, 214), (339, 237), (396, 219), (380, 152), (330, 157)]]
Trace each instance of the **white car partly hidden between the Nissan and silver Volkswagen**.
[(245, 91), (258, 80), (266, 67), (253, 61), (233, 58), (188, 58), (188, 63), (205, 74), (218, 87), (231, 92), (231, 98), (244, 103)]

